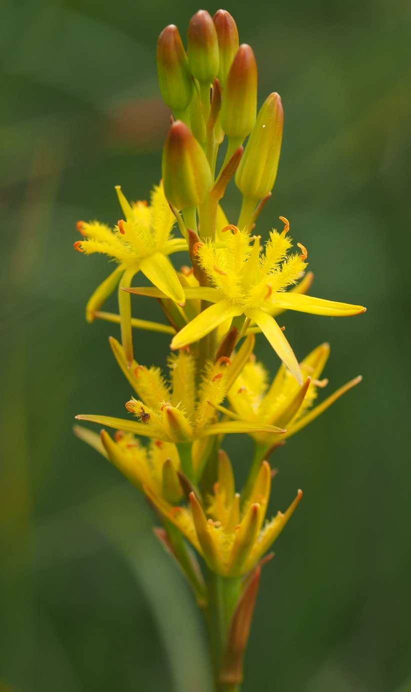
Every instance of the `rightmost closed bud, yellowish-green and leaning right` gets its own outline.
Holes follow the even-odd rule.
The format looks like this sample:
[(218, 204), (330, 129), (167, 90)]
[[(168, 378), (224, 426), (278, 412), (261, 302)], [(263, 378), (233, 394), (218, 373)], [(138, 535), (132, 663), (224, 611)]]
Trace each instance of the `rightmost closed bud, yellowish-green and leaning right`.
[(277, 93), (271, 93), (259, 110), (235, 174), (235, 183), (244, 197), (259, 201), (273, 189), (280, 160), (283, 122), (281, 98)]

